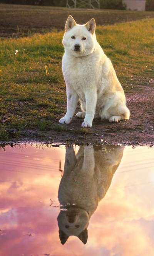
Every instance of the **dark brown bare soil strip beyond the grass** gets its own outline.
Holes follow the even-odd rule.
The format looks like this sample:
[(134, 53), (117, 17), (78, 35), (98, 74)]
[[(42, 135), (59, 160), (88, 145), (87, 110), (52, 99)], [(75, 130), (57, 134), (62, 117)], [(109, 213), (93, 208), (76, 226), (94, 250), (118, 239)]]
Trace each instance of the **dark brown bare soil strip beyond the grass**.
[(36, 32), (45, 33), (54, 28), (64, 29), (69, 15), (73, 15), (80, 24), (95, 18), (97, 25), (154, 18), (154, 12), (0, 4), (0, 36), (17, 38)]

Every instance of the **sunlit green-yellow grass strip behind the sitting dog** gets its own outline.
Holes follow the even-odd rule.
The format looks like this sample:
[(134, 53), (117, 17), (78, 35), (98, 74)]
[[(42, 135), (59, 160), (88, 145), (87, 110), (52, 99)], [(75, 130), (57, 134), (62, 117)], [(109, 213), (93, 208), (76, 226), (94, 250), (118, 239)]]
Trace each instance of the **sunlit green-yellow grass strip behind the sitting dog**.
[[(97, 27), (97, 39), (125, 92), (139, 91), (153, 78), (153, 30), (154, 19)], [(57, 125), (66, 110), (62, 36), (63, 31), (54, 30), (0, 39), (0, 140), (12, 128), (66, 131)]]

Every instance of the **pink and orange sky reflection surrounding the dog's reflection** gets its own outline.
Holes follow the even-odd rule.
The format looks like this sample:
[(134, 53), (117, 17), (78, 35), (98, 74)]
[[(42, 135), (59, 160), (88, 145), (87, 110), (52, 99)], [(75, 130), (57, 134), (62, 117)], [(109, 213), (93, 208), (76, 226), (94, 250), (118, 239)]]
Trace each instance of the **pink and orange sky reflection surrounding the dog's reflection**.
[[(153, 256), (153, 149), (124, 149), (112, 184), (90, 219), (88, 241), (59, 241), (57, 191), (65, 147), (0, 150), (0, 255)], [(50, 199), (55, 202), (50, 206)]]

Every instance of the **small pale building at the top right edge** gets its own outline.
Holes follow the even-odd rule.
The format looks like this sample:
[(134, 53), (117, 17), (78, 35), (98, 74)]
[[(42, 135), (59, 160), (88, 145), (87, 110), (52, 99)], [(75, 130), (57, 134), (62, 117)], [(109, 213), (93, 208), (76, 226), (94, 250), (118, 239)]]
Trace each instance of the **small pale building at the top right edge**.
[(123, 3), (126, 4), (127, 10), (146, 10), (146, 0), (123, 0)]

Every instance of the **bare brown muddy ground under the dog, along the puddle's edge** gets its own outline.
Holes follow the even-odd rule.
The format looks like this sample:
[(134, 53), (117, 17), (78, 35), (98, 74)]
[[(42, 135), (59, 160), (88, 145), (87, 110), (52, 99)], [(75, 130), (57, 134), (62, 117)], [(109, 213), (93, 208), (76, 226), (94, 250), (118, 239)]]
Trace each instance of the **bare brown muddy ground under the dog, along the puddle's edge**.
[[(130, 120), (109, 123), (107, 120), (94, 119), (92, 128), (81, 129), (83, 119), (73, 118), (70, 124), (59, 125), (57, 117), (52, 130), (40, 132), (23, 131), (20, 140), (35, 140), (45, 143), (107, 143), (122, 145), (154, 146), (154, 88), (144, 86), (140, 93), (126, 93), (127, 107), (131, 112)], [(63, 113), (62, 115), (63, 116)], [(13, 135), (15, 131), (10, 131)], [(17, 141), (17, 139), (16, 139)]]

